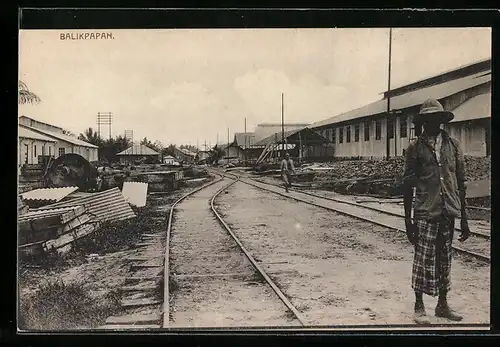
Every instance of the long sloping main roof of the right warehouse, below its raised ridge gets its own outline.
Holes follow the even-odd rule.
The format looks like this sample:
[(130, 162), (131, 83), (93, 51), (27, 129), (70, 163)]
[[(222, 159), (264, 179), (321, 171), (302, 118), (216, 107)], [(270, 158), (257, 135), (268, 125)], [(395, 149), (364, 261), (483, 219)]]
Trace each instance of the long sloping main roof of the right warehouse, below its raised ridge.
[[(463, 90), (491, 82), (491, 75), (484, 75), (484, 73), (483, 71), (474, 75), (392, 97), (391, 111), (420, 105), (429, 98), (442, 99)], [(326, 120), (316, 122), (311, 125), (311, 128), (319, 128), (325, 125), (336, 124), (385, 112), (387, 112), (387, 99), (382, 99)]]

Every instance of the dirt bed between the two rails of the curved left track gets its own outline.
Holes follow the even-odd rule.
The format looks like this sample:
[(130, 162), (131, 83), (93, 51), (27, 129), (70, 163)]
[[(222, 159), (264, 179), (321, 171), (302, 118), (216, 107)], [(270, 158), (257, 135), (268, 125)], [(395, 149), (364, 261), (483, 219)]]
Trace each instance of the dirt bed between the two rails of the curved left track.
[(230, 182), (215, 183), (176, 208), (170, 327), (297, 326), (210, 210), (212, 196)]

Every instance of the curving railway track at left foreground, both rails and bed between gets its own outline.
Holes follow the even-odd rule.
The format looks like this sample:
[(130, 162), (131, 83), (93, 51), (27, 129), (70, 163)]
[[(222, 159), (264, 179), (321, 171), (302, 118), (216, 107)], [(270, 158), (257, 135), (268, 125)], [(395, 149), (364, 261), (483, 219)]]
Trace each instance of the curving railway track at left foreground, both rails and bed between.
[[(186, 325), (207, 327), (205, 323), (214, 323), (214, 312), (220, 316), (219, 324), (215, 324), (227, 326), (221, 325), (223, 321), (227, 323), (222, 317), (224, 314), (220, 312), (224, 307), (219, 306), (213, 310), (208, 308), (216, 305), (221, 292), (227, 294), (224, 302), (226, 308), (231, 309), (234, 305), (246, 312), (245, 318), (239, 317), (240, 322), (238, 317), (228, 318), (233, 323), (236, 321), (237, 326), (245, 323), (255, 325), (256, 322), (258, 325), (259, 319), (262, 322), (272, 320), (277, 325), (290, 325), (290, 321), (294, 322), (292, 325), (305, 325), (300, 312), (216, 210), (216, 198), (237, 181), (238, 178), (235, 178), (225, 183), (221, 176), (220, 179), (186, 194), (172, 205), (165, 246), (162, 328)], [(180, 208), (179, 204), (184, 200), (186, 201), (182, 206), (186, 212), (183, 214), (182, 210), (177, 211), (174, 216), (174, 211)], [(203, 205), (204, 209), (200, 208)], [(276, 297), (281, 301), (278, 305)], [(233, 299), (234, 302), (231, 301)], [(197, 304), (200, 300), (203, 309)], [(266, 309), (259, 311), (258, 306), (264, 303)], [(255, 312), (252, 311), (254, 305), (257, 306)], [(204, 312), (209, 314), (205, 320)], [(243, 324), (238, 325), (239, 323)]]

